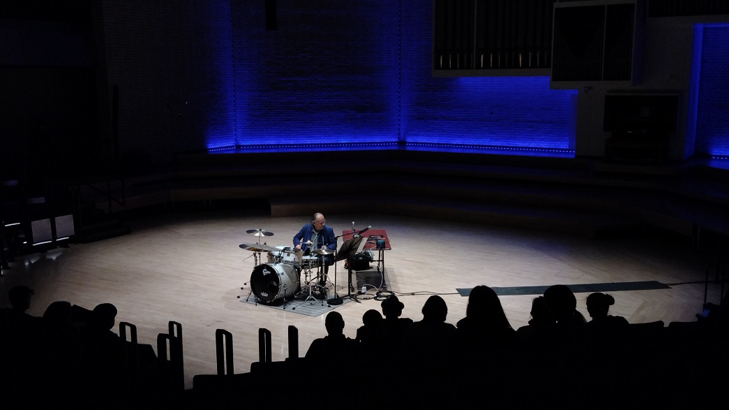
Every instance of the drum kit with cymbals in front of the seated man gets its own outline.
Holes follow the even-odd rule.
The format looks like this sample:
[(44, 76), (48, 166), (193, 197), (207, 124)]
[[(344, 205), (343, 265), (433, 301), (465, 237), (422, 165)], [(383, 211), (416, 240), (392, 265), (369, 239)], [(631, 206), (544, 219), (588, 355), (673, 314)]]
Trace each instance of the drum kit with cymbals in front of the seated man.
[[(257, 236), (259, 242), (238, 245), (243, 250), (254, 252), (254, 268), (249, 283), (251, 293), (255, 295), (258, 302), (278, 303), (289, 301), (297, 295), (305, 295), (304, 301), (321, 299), (321, 303), (324, 303), (327, 290), (317, 283), (318, 278), (324, 274), (320, 256), (329, 255), (333, 251), (314, 250), (311, 252), (314, 255), (304, 256), (302, 250), (294, 247), (272, 247), (265, 242), (260, 244), (261, 236), (273, 236), (272, 232), (249, 229), (246, 233)], [(311, 244), (311, 241), (303, 243)], [(262, 252), (267, 252), (265, 263), (261, 258)], [(301, 274), (304, 276), (303, 282), (301, 282)]]

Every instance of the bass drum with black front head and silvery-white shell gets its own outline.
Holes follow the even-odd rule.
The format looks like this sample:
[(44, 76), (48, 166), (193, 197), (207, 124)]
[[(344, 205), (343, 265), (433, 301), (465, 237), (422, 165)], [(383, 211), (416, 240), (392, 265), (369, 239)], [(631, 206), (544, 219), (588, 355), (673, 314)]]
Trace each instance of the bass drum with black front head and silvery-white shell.
[(265, 303), (291, 298), (299, 291), (299, 273), (289, 263), (262, 263), (253, 268), (251, 290)]

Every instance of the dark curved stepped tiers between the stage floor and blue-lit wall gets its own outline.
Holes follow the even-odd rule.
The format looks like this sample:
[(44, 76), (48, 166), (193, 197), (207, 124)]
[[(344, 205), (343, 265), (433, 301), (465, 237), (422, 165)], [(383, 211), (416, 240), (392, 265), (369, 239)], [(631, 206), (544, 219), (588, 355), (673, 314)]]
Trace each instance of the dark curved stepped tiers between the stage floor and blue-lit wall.
[[(372, 212), (589, 237), (645, 225), (694, 240), (703, 231), (729, 235), (726, 173), (707, 177), (691, 167), (587, 159), (399, 150), (359, 154), (367, 160), (352, 166), (341, 152), (318, 152), (319, 165), (305, 172), (299, 152), (180, 155), (171, 173), (125, 181), (125, 204), (112, 204), (112, 211), (268, 201), (273, 217)], [(104, 203), (98, 206), (109, 212)]]

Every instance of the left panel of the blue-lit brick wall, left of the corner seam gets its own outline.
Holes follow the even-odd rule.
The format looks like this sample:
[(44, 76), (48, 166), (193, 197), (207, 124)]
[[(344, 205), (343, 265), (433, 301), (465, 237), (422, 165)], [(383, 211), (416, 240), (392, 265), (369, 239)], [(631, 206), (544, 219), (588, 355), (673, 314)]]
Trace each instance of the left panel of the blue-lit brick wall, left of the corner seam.
[(236, 142), (397, 141), (399, 1), (235, 1)]

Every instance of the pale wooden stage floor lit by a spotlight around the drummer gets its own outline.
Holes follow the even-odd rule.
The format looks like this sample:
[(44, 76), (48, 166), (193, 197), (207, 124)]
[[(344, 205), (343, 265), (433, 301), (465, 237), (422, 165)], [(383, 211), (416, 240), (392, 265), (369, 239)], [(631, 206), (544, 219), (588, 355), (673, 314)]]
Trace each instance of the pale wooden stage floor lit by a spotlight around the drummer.
[[(327, 214), (335, 232), (356, 226), (385, 229), (392, 250), (386, 253), (387, 290), (405, 303), (403, 316), (420, 320), (430, 295), (448, 303), (448, 322), (465, 316), (467, 298), (456, 289), (476, 285), (528, 287), (608, 282), (657, 281), (667, 289), (612, 292), (611, 313), (629, 322), (695, 321), (704, 298), (706, 269), (712, 255), (691, 247), (690, 240), (660, 231), (636, 231), (622, 236), (585, 239), (564, 233), (529, 231), (491, 225), (388, 214)], [(9, 306), (7, 290), (28, 285), (36, 291), (30, 314), (40, 316), (53, 301), (93, 309), (109, 302), (121, 321), (136, 325), (139, 342), (156, 345), (168, 322), (182, 324), (186, 387), (195, 374), (216, 372), (215, 330), (233, 334), (235, 372), (249, 371), (258, 360), (258, 330), (273, 333), (273, 360), (287, 355), (287, 327), (295, 325), (300, 355), (313, 339), (324, 336), (324, 314), (309, 316), (292, 310), (242, 303), (254, 268), (253, 253), (238, 247), (257, 237), (246, 230), (262, 228), (273, 236), (269, 245), (291, 244), (308, 223), (308, 214), (269, 217), (245, 209), (177, 210), (140, 216), (132, 233), (88, 244), (71, 244), (16, 260), (1, 278), (0, 306)], [(337, 267), (337, 293), (346, 295), (346, 271)], [(333, 273), (333, 269), (330, 274)], [(713, 276), (712, 276), (712, 279)], [(722, 289), (709, 284), (708, 299), (718, 303)], [(588, 317), (578, 293), (580, 312)], [(380, 309), (375, 290), (362, 303), (337, 306), (354, 338), (368, 309)], [(502, 305), (513, 328), (526, 325), (534, 295), (504, 295)], [(116, 329), (118, 332), (118, 328)]]

